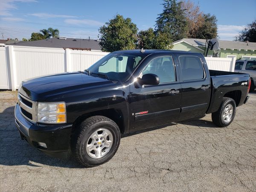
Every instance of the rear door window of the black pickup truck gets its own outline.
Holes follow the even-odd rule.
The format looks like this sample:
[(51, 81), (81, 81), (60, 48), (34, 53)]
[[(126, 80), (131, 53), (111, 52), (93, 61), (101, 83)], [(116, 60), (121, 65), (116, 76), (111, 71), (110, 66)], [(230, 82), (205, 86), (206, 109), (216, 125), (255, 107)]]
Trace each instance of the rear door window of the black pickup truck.
[(204, 68), (199, 57), (180, 56), (179, 60), (183, 81), (198, 80), (204, 78)]

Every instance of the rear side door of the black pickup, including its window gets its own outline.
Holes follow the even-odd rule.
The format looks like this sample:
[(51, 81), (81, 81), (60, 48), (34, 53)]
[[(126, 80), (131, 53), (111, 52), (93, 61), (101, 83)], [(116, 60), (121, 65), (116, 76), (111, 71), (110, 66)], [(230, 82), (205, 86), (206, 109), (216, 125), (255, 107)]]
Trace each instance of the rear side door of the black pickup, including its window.
[(203, 116), (210, 101), (208, 68), (199, 55), (180, 55), (178, 60), (182, 79), (180, 120)]

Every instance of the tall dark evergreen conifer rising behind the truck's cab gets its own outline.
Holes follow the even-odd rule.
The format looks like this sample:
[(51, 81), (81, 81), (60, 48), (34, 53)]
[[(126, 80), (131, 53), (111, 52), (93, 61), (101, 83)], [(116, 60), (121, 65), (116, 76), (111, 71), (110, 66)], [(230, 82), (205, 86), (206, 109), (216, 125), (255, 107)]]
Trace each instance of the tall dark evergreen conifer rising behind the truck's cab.
[(181, 8), (182, 2), (164, 0), (163, 13), (156, 20), (156, 32), (169, 33), (174, 41), (186, 38), (188, 22)]

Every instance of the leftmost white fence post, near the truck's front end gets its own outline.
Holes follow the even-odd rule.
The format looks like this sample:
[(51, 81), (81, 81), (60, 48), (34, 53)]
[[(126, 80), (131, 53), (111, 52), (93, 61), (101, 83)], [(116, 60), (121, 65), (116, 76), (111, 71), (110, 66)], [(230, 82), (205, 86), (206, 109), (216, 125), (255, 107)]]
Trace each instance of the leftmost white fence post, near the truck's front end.
[(8, 74), (10, 74), (8, 76), (9, 88), (12, 88), (12, 91), (15, 91), (17, 73), (16, 73), (15, 55), (14, 55), (12, 45), (6, 46), (6, 62), (7, 62)]

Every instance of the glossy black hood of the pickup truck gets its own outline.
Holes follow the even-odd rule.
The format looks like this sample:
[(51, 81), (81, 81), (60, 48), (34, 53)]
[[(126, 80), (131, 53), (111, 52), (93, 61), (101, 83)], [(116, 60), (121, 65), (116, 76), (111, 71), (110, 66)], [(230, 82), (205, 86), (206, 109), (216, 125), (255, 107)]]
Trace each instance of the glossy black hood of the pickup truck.
[(40, 101), (47, 95), (112, 83), (108, 79), (88, 76), (83, 72), (60, 73), (25, 80), (20, 85), (19, 92), (33, 101)]

